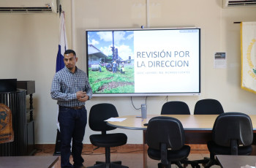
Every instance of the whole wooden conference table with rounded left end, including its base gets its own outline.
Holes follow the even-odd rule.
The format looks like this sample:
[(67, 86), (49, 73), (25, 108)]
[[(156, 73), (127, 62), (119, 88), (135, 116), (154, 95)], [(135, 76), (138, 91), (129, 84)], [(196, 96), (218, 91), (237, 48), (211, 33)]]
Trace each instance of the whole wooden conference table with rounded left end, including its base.
[[(185, 131), (186, 144), (206, 144), (211, 140), (211, 130), (218, 115), (147, 115), (147, 118), (139, 118), (137, 115), (125, 115), (124, 121), (108, 121), (108, 125), (119, 129), (133, 129), (143, 131), (143, 167), (147, 167), (146, 129), (145, 123), (157, 116), (169, 116), (181, 121)], [(256, 115), (249, 115), (252, 120), (254, 137), (256, 134)], [(254, 140), (255, 143), (255, 140)]]

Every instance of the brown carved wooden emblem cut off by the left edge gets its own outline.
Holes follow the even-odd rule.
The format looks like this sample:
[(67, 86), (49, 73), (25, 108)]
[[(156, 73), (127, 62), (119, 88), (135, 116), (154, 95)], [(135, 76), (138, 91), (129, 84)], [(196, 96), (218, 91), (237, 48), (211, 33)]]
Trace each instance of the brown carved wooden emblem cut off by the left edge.
[(12, 111), (7, 105), (0, 103), (0, 143), (13, 140)]

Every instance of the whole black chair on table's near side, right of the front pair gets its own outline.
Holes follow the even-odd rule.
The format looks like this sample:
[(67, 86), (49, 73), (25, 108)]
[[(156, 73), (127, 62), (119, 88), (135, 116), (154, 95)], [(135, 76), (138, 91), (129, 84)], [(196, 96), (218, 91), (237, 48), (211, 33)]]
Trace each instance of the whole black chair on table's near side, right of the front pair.
[(215, 155), (249, 155), (252, 153), (252, 121), (241, 112), (225, 112), (216, 118), (212, 140), (207, 143), (210, 161), (206, 168), (218, 164)]

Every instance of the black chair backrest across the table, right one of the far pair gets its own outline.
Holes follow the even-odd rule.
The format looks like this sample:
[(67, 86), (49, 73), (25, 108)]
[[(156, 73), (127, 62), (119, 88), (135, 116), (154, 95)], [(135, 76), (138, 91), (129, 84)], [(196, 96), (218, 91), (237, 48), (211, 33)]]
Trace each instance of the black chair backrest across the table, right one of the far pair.
[(194, 115), (219, 115), (224, 112), (216, 99), (202, 99), (195, 104)]

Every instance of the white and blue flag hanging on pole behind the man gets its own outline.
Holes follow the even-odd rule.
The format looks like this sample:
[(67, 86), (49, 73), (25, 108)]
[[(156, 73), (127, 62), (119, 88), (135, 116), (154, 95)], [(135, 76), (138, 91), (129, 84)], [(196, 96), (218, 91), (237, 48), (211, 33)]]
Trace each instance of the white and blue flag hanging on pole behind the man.
[(59, 26), (59, 50), (56, 60), (56, 72), (64, 68), (64, 53), (67, 50), (67, 35), (65, 28), (64, 12), (61, 12), (61, 23)]

